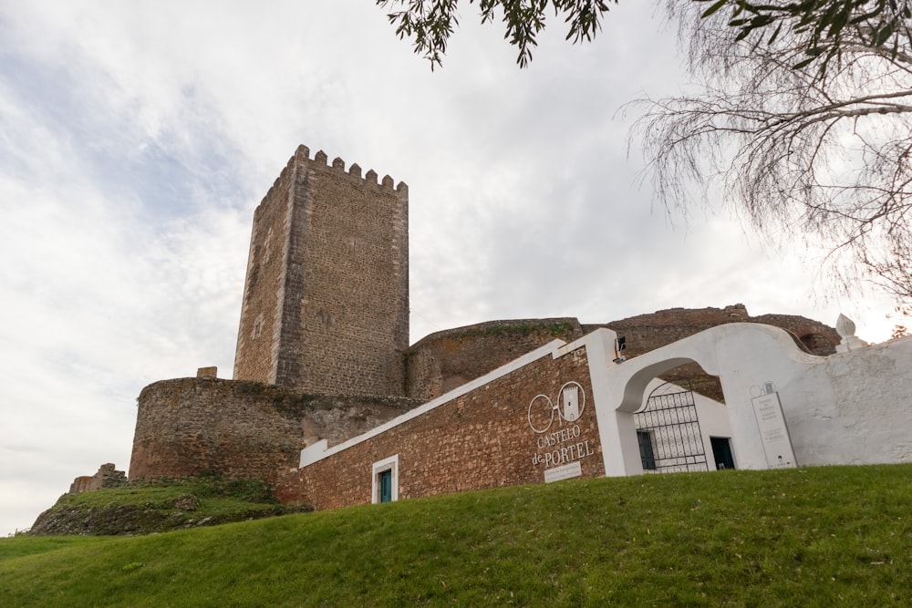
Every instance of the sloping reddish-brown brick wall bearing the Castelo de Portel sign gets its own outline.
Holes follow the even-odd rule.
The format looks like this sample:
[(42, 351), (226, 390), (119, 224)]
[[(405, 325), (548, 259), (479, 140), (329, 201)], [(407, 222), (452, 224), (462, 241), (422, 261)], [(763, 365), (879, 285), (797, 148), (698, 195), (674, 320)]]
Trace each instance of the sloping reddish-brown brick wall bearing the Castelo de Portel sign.
[[(578, 437), (541, 448), (538, 441), (548, 434), (538, 435), (529, 427), (529, 404), (538, 394), (556, 403), (558, 390), (571, 380), (584, 387), (586, 405), (581, 417), (572, 425), (565, 422), (563, 428), (578, 425)], [(587, 455), (579, 459), (584, 477), (603, 476), (591, 396), (585, 348), (558, 359), (544, 356), (423, 416), (286, 475), (279, 483), (280, 496), (316, 509), (369, 503), (373, 463), (396, 454), (400, 500), (540, 483), (545, 465), (534, 462), (536, 454), (544, 459), (544, 452), (577, 444), (586, 447)], [(554, 420), (550, 431), (561, 428)]]

